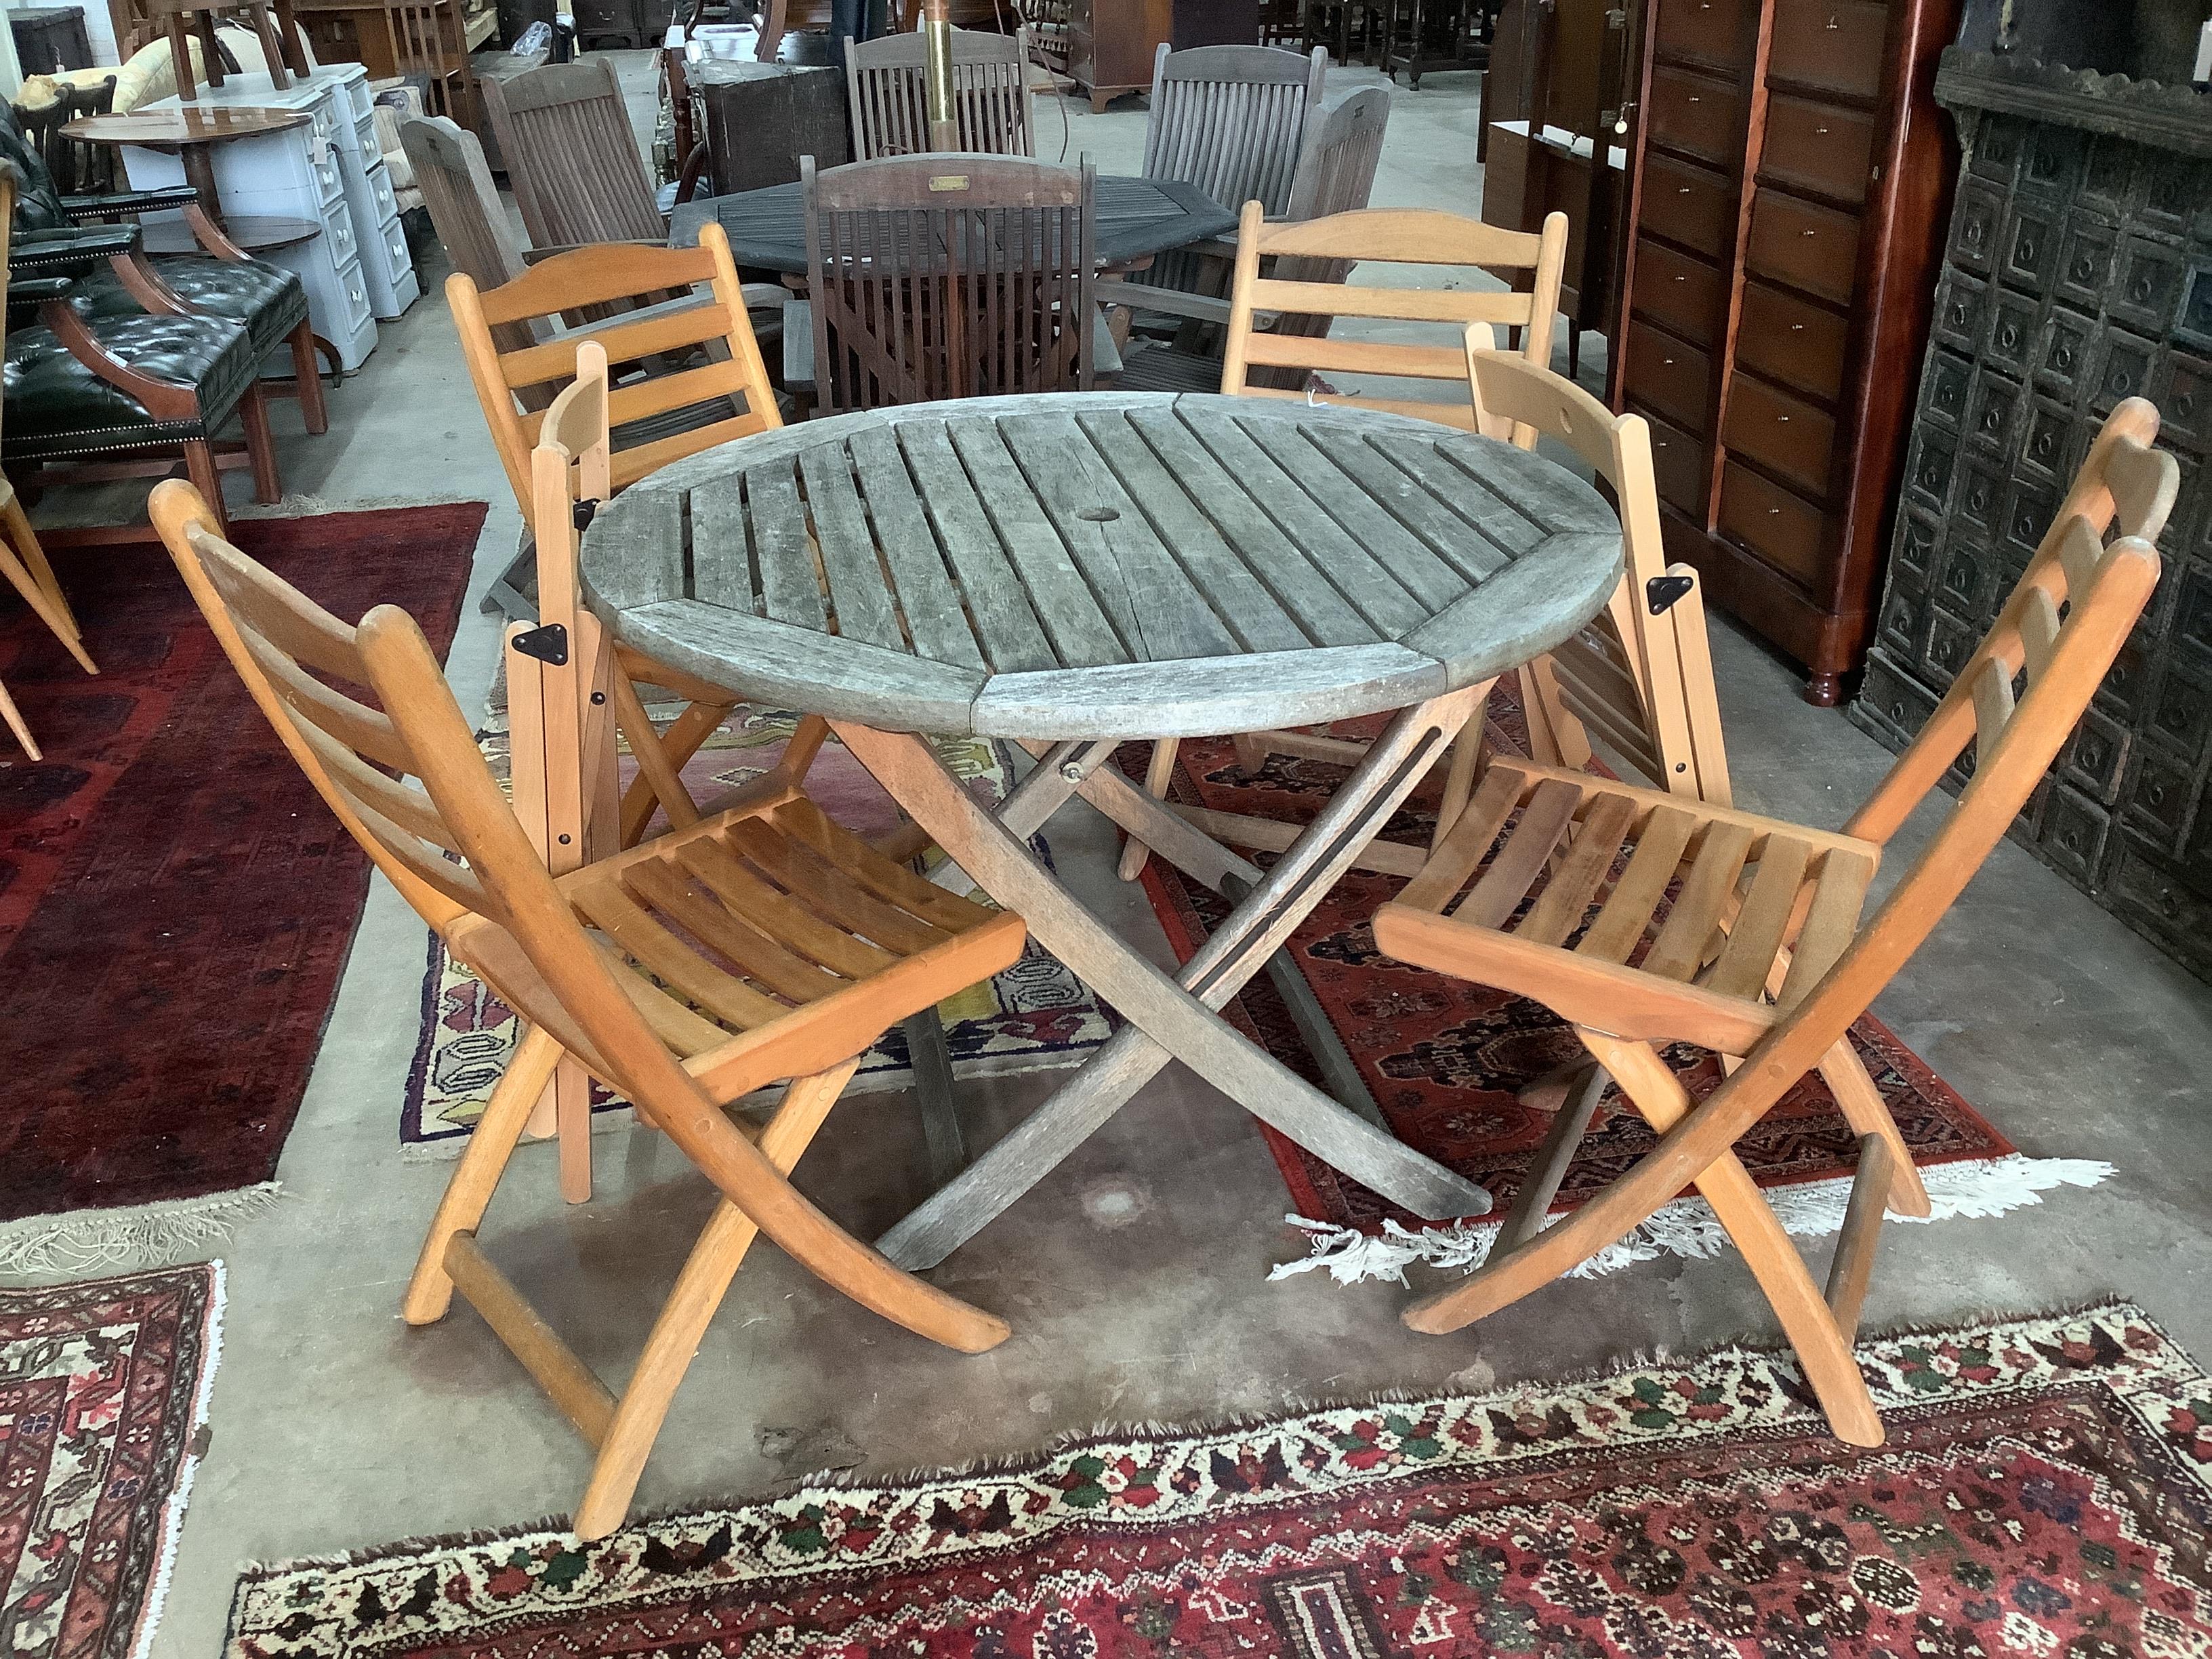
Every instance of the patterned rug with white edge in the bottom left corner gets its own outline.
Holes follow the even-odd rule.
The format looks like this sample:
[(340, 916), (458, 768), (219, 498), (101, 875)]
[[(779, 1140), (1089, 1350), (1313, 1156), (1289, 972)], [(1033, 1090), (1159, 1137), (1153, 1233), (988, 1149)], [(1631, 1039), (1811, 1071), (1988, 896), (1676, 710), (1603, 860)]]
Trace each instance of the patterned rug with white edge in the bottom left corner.
[(0, 1652), (137, 1659), (221, 1349), (215, 1263), (0, 1290)]

